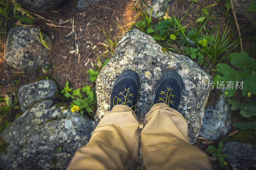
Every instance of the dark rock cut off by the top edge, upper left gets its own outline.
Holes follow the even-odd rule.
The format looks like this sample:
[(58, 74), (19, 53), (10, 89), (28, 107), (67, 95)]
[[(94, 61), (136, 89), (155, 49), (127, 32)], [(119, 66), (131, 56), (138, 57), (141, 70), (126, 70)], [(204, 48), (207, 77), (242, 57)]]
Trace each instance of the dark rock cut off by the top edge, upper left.
[(29, 11), (45, 13), (56, 10), (65, 0), (17, 0), (17, 2)]

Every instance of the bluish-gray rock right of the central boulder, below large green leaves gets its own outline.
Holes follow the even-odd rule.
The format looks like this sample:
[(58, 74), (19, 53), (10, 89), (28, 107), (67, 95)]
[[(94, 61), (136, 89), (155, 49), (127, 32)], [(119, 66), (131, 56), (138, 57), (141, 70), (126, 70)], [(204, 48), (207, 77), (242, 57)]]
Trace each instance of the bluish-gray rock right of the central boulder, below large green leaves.
[(224, 93), (222, 93), (214, 106), (205, 108), (200, 135), (215, 140), (228, 132), (230, 124), (230, 104), (225, 99)]

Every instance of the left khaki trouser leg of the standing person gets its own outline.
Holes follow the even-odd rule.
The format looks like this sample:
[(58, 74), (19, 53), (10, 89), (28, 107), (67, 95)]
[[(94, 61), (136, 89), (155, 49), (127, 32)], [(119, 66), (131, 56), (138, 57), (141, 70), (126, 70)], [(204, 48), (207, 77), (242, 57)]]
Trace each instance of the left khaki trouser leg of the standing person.
[(140, 141), (136, 118), (128, 106), (114, 106), (102, 118), (89, 143), (76, 152), (68, 169), (135, 169)]

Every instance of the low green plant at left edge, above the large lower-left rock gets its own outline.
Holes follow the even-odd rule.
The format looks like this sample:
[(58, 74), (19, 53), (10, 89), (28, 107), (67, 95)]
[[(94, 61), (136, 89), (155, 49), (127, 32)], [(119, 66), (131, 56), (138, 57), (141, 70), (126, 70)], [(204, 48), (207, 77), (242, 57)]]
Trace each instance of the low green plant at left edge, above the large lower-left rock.
[(0, 103), (4, 103), (2, 106), (0, 106), (0, 117), (2, 119), (0, 124), (0, 133), (4, 131), (4, 129), (9, 126), (8, 120), (5, 120), (6, 116), (11, 117), (19, 117), (19, 113), (15, 114), (15, 110), (19, 109), (20, 106), (16, 105), (18, 103), (17, 97), (14, 98), (14, 103), (12, 103), (10, 97), (6, 94), (6, 97), (0, 97)]

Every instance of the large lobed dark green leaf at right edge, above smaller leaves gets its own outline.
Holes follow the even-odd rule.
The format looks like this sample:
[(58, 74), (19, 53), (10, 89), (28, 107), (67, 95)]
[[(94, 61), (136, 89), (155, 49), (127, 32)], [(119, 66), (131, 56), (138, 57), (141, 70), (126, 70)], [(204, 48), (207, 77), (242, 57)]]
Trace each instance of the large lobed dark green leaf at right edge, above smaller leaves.
[[(217, 65), (217, 70), (220, 74), (214, 76), (214, 82), (224, 81), (227, 85), (230, 81), (240, 82), (243, 81), (243, 96), (251, 97), (252, 94), (256, 94), (256, 61), (249, 55), (241, 51), (241, 53), (232, 53), (228, 56), (230, 63), (239, 68), (234, 69), (228, 64), (220, 63)], [(225, 97), (231, 97), (235, 95), (236, 88), (226, 88)]]

